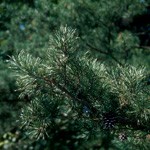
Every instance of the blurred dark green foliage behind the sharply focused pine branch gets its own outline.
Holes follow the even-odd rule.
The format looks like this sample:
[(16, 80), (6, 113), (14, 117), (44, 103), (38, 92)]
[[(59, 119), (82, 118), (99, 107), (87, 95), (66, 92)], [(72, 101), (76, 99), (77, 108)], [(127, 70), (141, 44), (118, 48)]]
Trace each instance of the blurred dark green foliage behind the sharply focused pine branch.
[[(13, 143), (21, 146), (26, 141), (18, 140), (23, 131), (16, 120), (20, 108), (30, 100), (18, 99), (15, 78), (7, 64), (10, 56), (24, 49), (40, 57), (49, 46), (51, 33), (68, 25), (77, 29), (81, 53), (89, 49), (99, 61), (109, 65), (130, 63), (150, 69), (149, 18), (149, 0), (1, 0), (0, 147), (8, 146), (11, 137), (16, 140), (4, 149), (14, 149)], [(24, 149), (28, 144), (24, 144)]]

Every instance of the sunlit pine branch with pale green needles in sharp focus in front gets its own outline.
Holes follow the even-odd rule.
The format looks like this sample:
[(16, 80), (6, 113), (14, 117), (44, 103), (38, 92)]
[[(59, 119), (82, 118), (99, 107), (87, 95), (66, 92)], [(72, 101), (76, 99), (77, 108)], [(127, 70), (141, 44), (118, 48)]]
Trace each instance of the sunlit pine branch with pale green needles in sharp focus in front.
[(146, 68), (107, 66), (79, 51), (79, 40), (60, 27), (43, 57), (12, 57), (20, 98), (30, 99), (20, 116), (27, 135), (51, 149), (149, 149)]

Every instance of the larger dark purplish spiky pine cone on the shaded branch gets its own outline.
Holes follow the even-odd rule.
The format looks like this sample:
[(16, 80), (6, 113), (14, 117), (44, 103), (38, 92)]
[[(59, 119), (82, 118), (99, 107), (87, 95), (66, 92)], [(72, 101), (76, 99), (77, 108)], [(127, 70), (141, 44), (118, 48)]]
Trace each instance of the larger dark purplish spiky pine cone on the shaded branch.
[(114, 127), (116, 122), (115, 116), (112, 113), (105, 113), (103, 114), (103, 123), (105, 129), (111, 129)]

